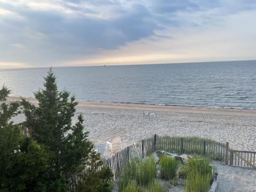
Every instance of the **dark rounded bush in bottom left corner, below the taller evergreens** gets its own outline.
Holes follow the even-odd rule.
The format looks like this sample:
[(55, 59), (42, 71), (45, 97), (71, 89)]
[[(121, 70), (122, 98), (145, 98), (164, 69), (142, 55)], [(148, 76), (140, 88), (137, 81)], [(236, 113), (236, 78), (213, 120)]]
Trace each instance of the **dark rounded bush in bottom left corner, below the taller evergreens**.
[(45, 191), (51, 186), (47, 175), (51, 154), (28, 138), (19, 144), (7, 167), (1, 169), (0, 191)]

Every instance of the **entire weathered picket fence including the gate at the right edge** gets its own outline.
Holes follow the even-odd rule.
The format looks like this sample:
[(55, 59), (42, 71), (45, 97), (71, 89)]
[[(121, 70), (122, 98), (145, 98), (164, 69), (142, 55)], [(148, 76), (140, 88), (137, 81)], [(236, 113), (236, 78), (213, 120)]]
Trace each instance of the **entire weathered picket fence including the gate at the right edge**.
[[(20, 123), (22, 133), (29, 137), (28, 129)], [(113, 171), (115, 180), (119, 172), (131, 162), (132, 159), (142, 159), (156, 150), (165, 150), (177, 154), (196, 154), (225, 162), (230, 166), (256, 169), (256, 151), (243, 151), (229, 149), (229, 143), (220, 143), (198, 137), (169, 137), (153, 135), (149, 138), (135, 142), (115, 155), (107, 158), (102, 166), (109, 166)], [(99, 170), (102, 167), (99, 167)], [(70, 178), (69, 191), (74, 191), (80, 178)]]

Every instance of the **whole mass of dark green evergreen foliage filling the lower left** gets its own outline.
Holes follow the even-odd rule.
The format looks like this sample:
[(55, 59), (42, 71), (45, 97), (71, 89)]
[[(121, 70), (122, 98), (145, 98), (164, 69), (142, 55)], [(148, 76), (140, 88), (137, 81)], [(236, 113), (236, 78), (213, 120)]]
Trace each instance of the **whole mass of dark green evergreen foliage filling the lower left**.
[[(81, 186), (89, 183), (91, 189), (108, 191), (112, 173), (107, 167), (96, 171), (101, 165), (99, 155), (93, 152), (88, 132), (83, 132), (82, 115), (75, 125), (71, 123), (75, 98), (69, 98), (67, 91), (58, 91), (51, 69), (44, 88), (35, 93), (38, 106), (25, 99), (0, 105), (0, 192), (66, 191), (71, 176), (81, 173), (87, 164), (91, 169)], [(29, 139), (11, 121), (20, 113), (20, 106), (26, 116)]]

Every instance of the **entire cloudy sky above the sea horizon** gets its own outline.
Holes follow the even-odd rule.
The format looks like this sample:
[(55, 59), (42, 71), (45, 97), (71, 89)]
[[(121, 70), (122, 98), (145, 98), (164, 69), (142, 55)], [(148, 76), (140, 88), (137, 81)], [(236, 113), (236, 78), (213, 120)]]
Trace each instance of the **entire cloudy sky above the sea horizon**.
[(0, 68), (256, 59), (256, 0), (0, 0)]

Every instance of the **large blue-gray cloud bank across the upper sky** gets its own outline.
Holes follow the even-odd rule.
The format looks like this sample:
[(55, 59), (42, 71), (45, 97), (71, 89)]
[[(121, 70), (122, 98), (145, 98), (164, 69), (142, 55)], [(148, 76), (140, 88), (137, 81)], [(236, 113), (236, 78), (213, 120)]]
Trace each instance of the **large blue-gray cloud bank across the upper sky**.
[[(147, 4), (136, 1), (127, 5), (117, 0), (69, 0), (55, 2), (58, 7), (49, 10), (35, 9), (27, 4), (0, 3), (0, 8), (15, 13), (0, 15), (0, 58), (38, 66), (52, 65), (90, 57), (99, 49), (118, 49), (118, 46), (141, 38), (161, 38), (155, 30), (184, 25), (185, 21), (180, 21), (177, 15), (180, 12), (194, 13), (221, 6), (225, 7), (222, 12), (228, 10), (226, 12), (230, 13), (255, 9), (255, 1), (235, 2), (151, 0)], [(227, 7), (231, 4), (229, 10)], [(205, 15), (204, 19), (214, 18)], [(191, 25), (199, 24), (191, 21)]]

